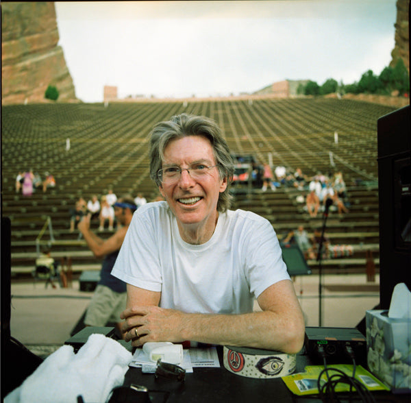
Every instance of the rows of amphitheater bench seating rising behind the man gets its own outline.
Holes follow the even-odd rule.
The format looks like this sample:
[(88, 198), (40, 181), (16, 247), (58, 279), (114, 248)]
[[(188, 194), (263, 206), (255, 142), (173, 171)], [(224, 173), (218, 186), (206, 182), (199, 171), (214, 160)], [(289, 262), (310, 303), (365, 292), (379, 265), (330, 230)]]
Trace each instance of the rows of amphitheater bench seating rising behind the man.
[[(102, 195), (109, 186), (119, 195), (142, 192), (149, 200), (158, 189), (149, 178), (147, 135), (154, 123), (173, 114), (204, 114), (221, 125), (230, 149), (252, 154), (260, 162), (300, 167), (306, 175), (343, 172), (349, 185), (350, 212), (332, 212), (327, 236), (333, 243), (355, 247), (351, 259), (327, 263), (332, 271), (362, 270), (365, 251), (372, 250), (378, 266), (377, 119), (394, 109), (348, 99), (242, 99), (147, 101), (18, 105), (2, 107), (2, 208), (12, 220), (12, 273), (33, 269), (36, 239), (51, 217), (55, 258), (71, 256), (73, 270), (99, 269), (77, 232), (69, 232), (69, 209), (77, 197)], [(338, 133), (338, 143), (334, 142)], [(71, 149), (65, 150), (66, 138)], [(331, 164), (330, 153), (334, 165)], [(23, 197), (14, 191), (18, 171), (32, 168), (53, 173), (57, 186), (47, 193)], [(234, 208), (254, 211), (271, 221), (279, 239), (303, 223), (309, 232), (321, 217), (312, 219), (297, 202), (301, 191), (253, 190), (235, 194)], [(97, 223), (94, 223), (97, 229)], [(45, 231), (41, 240), (51, 234)], [(110, 236), (103, 232), (102, 236)], [(309, 262), (315, 270), (316, 262)]]

